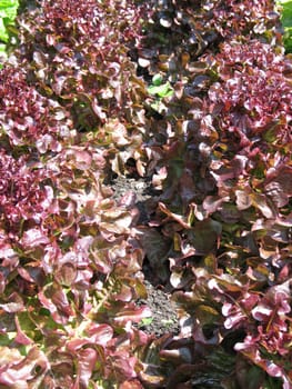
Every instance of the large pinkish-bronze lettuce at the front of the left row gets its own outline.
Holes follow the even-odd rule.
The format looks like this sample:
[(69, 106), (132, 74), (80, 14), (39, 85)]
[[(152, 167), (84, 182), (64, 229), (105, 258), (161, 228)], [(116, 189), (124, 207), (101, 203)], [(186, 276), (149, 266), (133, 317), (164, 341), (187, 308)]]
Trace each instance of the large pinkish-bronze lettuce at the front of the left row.
[(1, 153), (1, 385), (141, 388), (143, 252), (127, 199), (101, 184), (104, 164), (75, 146), (41, 174)]

